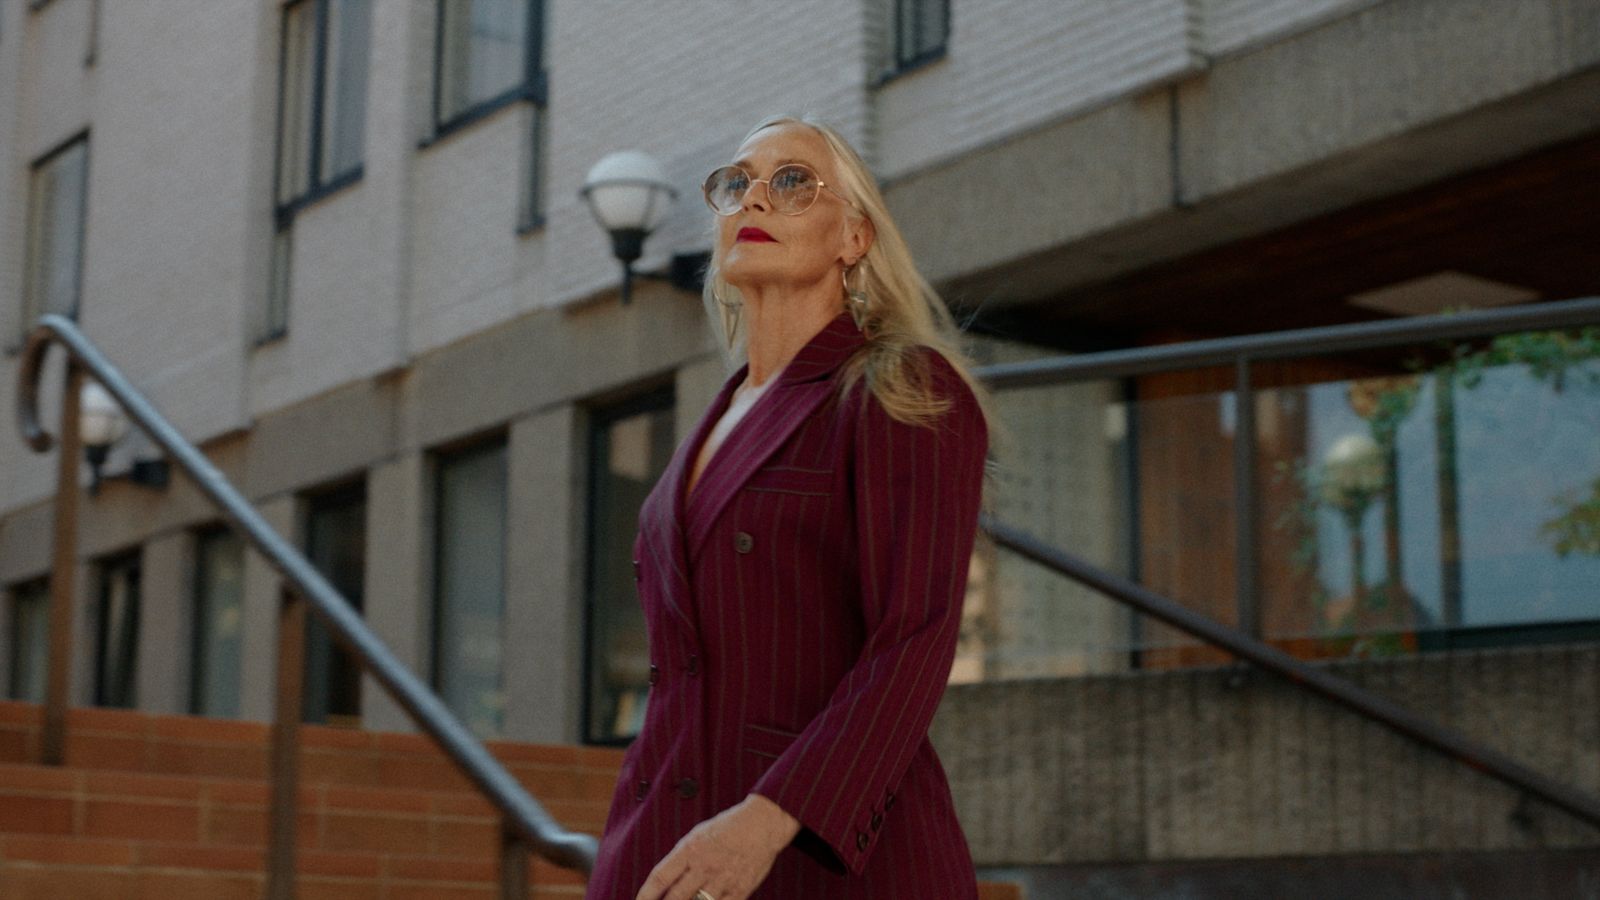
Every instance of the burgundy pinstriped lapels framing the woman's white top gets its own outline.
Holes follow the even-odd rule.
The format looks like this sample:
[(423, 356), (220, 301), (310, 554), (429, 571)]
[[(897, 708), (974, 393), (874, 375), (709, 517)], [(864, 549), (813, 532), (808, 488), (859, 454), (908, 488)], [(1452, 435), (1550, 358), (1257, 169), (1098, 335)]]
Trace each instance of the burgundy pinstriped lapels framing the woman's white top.
[[(717, 522), (717, 516), (744, 487), (744, 482), (784, 445), (784, 440), (800, 428), (800, 423), (834, 394), (835, 386), (830, 375), (862, 343), (864, 338), (856, 330), (850, 314), (837, 315), (800, 348), (800, 352), (784, 367), (771, 392), (750, 407), (744, 420), (712, 453), (699, 482), (694, 484), (694, 492), (686, 501), (680, 501), (683, 503), (683, 520), (688, 524), (690, 560), (699, 556), (699, 548), (710, 533), (712, 524)], [(674, 472), (675, 482), (688, 477), (688, 466), (693, 464), (693, 458), (699, 453), (710, 428), (728, 408), (733, 389), (744, 380), (746, 370), (747, 367), (741, 368), (723, 384), (717, 402), (696, 428), (694, 437), (686, 442), (690, 452), (685, 453), (686, 461), (682, 463), (682, 471)], [(682, 498), (683, 485), (678, 485), (674, 493)]]

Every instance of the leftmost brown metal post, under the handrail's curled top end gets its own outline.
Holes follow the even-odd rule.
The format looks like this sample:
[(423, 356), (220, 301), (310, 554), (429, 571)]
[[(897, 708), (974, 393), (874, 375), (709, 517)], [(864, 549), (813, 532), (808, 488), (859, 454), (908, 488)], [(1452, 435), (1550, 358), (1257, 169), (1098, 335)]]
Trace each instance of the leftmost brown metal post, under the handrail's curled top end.
[(83, 368), (67, 364), (61, 389), (61, 440), (56, 447), (56, 522), (50, 569), (50, 674), (45, 685), (45, 732), (40, 762), (61, 765), (67, 749), (67, 705), (72, 692), (72, 613), (78, 565), (78, 399)]

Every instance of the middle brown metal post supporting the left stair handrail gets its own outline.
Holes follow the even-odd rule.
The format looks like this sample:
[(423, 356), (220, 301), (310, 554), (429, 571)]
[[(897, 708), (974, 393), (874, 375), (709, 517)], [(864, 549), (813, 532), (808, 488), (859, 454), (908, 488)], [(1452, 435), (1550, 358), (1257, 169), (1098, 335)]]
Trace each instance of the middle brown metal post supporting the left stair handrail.
[(306, 677), (306, 602), (286, 585), (278, 599), (278, 674), (272, 716), (272, 833), (267, 900), (294, 900), (301, 687)]

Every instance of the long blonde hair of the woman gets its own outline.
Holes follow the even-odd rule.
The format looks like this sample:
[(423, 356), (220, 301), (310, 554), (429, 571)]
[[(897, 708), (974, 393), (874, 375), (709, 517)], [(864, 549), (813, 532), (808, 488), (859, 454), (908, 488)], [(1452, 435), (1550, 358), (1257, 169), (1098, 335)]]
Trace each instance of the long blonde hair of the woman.
[[(872, 247), (856, 263), (864, 269), (861, 290), (867, 295), (867, 315), (861, 330), (867, 336), (867, 343), (862, 351), (845, 362), (840, 396), (848, 394), (858, 381), (866, 380), (867, 389), (891, 418), (907, 424), (931, 424), (950, 405), (947, 399), (930, 391), (928, 373), (918, 349), (931, 348), (949, 360), (950, 367), (971, 388), (992, 434), (995, 421), (989, 391), (973, 378), (971, 360), (960, 346), (960, 330), (955, 319), (933, 285), (922, 277), (912, 263), (910, 248), (894, 226), (894, 219), (890, 218), (877, 179), (862, 162), (861, 154), (830, 125), (810, 117), (771, 115), (750, 128), (744, 139), (749, 141), (758, 131), (778, 125), (802, 125), (827, 141), (834, 155), (834, 170), (838, 175), (837, 187), (840, 194), (856, 203), (848, 215), (853, 218), (866, 216), (875, 232)], [(712, 240), (710, 264), (706, 271), (706, 309), (718, 331), (717, 336), (728, 348), (730, 360), (738, 360), (744, 354), (744, 343), (736, 335), (738, 306), (744, 303), (744, 298), (739, 296), (739, 288), (723, 280), (720, 269), (722, 256), (717, 242)], [(843, 311), (843, 285), (840, 285), (840, 301)]]

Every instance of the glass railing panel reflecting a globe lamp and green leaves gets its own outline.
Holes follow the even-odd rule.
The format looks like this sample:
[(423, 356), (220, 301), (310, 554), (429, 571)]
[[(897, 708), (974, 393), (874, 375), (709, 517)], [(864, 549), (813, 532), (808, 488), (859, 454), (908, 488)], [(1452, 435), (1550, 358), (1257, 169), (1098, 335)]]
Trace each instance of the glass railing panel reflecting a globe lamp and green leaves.
[(1269, 641), (1307, 658), (1394, 655), (1600, 620), (1592, 333), (1277, 372), (1307, 376), (1258, 396)]

